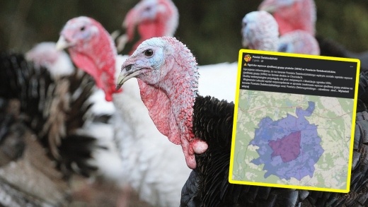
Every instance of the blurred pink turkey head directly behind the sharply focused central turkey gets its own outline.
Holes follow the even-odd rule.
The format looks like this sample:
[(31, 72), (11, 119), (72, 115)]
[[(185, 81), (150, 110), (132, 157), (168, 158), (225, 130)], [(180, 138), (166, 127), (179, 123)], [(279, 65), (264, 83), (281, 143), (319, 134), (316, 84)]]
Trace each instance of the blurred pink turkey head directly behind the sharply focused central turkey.
[(178, 28), (178, 8), (171, 0), (142, 0), (130, 9), (122, 26), (127, 29), (127, 40), (134, 39), (134, 30), (137, 30), (140, 39), (132, 48), (130, 54), (137, 49), (138, 45), (151, 37), (173, 37)]

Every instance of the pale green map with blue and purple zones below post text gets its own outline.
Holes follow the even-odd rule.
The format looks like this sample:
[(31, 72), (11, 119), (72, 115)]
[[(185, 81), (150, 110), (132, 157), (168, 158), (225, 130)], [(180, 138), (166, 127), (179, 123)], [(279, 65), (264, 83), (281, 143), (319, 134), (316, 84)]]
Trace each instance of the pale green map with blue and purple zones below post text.
[(240, 90), (232, 179), (346, 189), (353, 104)]

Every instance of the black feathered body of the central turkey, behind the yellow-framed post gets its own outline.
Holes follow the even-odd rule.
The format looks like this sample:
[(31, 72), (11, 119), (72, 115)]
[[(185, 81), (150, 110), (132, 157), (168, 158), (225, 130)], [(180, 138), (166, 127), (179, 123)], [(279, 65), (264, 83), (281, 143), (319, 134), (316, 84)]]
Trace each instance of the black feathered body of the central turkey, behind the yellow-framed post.
[[(367, 76), (364, 78), (367, 79)], [(199, 106), (198, 109), (197, 106)], [(205, 153), (196, 155), (199, 168), (193, 170), (183, 188), (182, 207), (368, 206), (368, 172), (367, 163), (364, 161), (367, 157), (367, 153), (364, 153), (367, 144), (364, 143), (363, 135), (367, 131), (367, 111), (357, 112), (350, 192), (338, 194), (229, 184), (234, 105), (221, 102), (213, 97), (197, 97), (194, 109), (193, 126), (195, 127), (193, 131), (195, 136), (207, 142), (209, 148)]]

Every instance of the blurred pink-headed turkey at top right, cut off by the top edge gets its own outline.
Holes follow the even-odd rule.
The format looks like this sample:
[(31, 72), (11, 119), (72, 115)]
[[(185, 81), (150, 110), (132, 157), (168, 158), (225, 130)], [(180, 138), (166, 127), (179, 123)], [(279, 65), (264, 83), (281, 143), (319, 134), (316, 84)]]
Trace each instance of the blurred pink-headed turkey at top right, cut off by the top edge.
[[(279, 24), (280, 35), (294, 30), (304, 30), (315, 35), (316, 5), (314, 0), (264, 0), (258, 9), (272, 13)], [(321, 49), (321, 55), (360, 59), (361, 70), (368, 69), (368, 52), (350, 52), (337, 42), (326, 40), (318, 35), (316, 40)]]

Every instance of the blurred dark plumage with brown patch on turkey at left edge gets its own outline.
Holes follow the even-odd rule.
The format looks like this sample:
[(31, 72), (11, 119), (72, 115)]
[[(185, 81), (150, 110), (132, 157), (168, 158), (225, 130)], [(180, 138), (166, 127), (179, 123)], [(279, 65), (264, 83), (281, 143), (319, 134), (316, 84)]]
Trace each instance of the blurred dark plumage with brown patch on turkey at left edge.
[[(88, 147), (88, 143), (91, 145), (95, 138), (76, 134), (76, 131), (83, 126), (82, 117), (91, 107), (87, 101), (95, 84), (91, 76), (76, 71), (71, 76), (62, 76), (57, 80), (52, 80), (50, 72), (45, 67), (34, 67), (32, 63), (25, 61), (22, 54), (3, 52), (0, 64), (0, 97), (9, 100), (10, 103), (18, 100), (20, 105), (18, 113), (21, 114), (12, 114), (14, 121), (18, 121), (16, 116), (21, 115), (17, 118), (20, 118), (23, 124), (33, 130), (45, 148), (50, 148), (50, 155), (59, 161), (59, 166), (64, 165), (71, 170), (71, 162), (77, 161), (77, 164), (86, 165), (79, 162), (80, 158), (69, 158), (68, 156), (74, 155), (70, 152), (64, 153), (62, 150), (76, 153), (78, 153), (76, 150), (86, 151), (81, 154), (86, 157), (90, 156), (87, 153), (88, 148), (81, 147)], [(58, 120), (52, 115), (62, 118)], [(6, 119), (11, 118), (6, 117), (4, 122)], [(64, 129), (57, 129), (58, 126)], [(61, 144), (55, 139), (60, 139)], [(86, 144), (79, 145), (78, 143)], [(52, 150), (61, 151), (52, 154)], [(63, 153), (64, 157), (58, 158), (57, 153)], [(88, 168), (82, 170), (81, 173), (87, 176)]]

